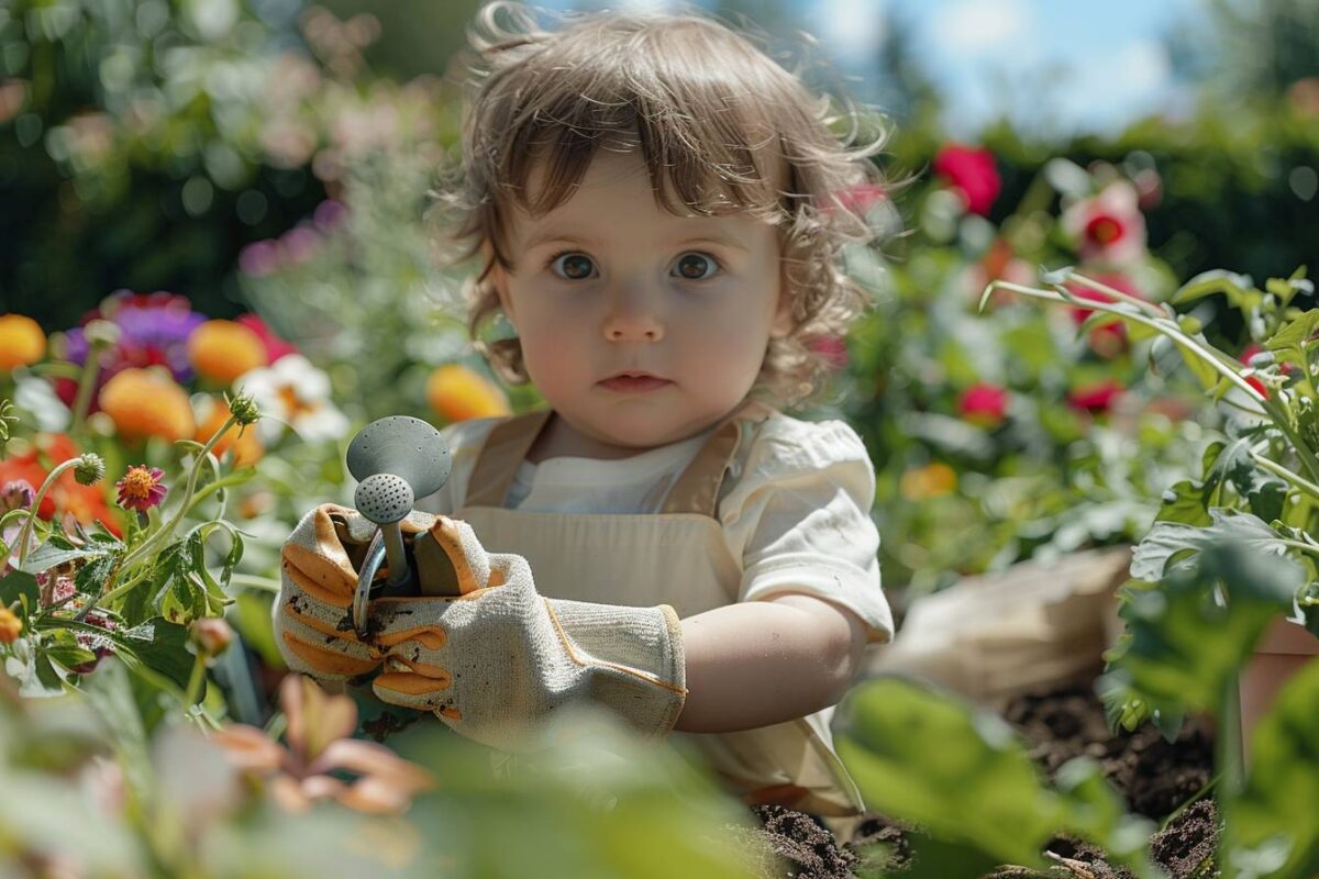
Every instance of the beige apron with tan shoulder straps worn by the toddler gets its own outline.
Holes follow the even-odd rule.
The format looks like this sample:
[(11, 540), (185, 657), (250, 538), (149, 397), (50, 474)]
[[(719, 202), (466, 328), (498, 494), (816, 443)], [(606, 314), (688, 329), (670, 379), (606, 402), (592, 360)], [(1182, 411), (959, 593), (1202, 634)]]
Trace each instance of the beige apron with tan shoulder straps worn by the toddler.
[[(660, 513), (565, 514), (504, 509), (517, 467), (550, 411), (500, 422), (476, 459), (455, 518), (491, 552), (528, 559), (551, 598), (624, 606), (667, 604), (691, 617), (737, 600), (741, 564), (723, 539), (716, 507), (724, 470), (744, 424), (769, 410), (744, 406), (710, 435), (681, 473)], [(824, 816), (861, 810), (856, 784), (834, 752), (832, 709), (785, 723), (719, 734), (674, 733), (748, 803), (776, 803)]]

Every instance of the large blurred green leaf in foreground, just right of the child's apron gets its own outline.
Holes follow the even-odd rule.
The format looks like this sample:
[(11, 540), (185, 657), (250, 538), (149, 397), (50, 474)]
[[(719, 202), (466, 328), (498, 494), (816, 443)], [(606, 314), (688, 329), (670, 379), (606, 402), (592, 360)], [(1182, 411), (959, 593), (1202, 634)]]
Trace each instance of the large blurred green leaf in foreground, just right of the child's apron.
[(997, 716), (881, 677), (847, 697), (842, 729), (839, 755), (869, 808), (977, 862), (1043, 866), (1041, 850), (1066, 807)]

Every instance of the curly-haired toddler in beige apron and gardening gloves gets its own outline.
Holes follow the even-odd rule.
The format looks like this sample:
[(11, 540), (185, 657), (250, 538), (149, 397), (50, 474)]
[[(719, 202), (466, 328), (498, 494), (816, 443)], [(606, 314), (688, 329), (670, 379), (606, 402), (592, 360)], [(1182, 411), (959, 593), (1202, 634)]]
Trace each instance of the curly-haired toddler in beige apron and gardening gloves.
[(749, 803), (856, 814), (828, 721), (893, 631), (874, 474), (845, 424), (776, 406), (810, 395), (814, 345), (864, 304), (839, 264), (872, 237), (855, 194), (878, 191), (878, 145), (840, 142), (703, 17), (541, 30), (496, 4), (474, 34), (443, 203), (481, 264), (474, 336), (512, 328), (479, 347), (546, 407), (443, 431), (452, 473), (418, 503), (438, 515), (408, 530), (460, 598), (376, 600), (359, 639), (344, 521), (314, 511), (286, 547), (281, 650), (497, 747), (594, 702), (687, 739)]

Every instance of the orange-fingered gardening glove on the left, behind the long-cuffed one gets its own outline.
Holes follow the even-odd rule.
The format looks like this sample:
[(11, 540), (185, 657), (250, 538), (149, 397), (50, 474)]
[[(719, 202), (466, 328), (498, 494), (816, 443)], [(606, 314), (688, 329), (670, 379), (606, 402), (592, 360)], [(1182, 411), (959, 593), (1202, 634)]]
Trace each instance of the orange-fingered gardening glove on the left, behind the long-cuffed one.
[[(447, 553), (426, 539), (435, 517), (413, 513), (400, 523), (422, 579), (451, 580)], [(380, 667), (384, 655), (352, 625), (357, 571), (376, 525), (351, 507), (322, 503), (307, 513), (280, 553), (274, 637), (289, 668), (319, 680), (348, 680)], [(418, 536), (421, 539), (418, 540)], [(381, 568), (380, 576), (386, 569)]]

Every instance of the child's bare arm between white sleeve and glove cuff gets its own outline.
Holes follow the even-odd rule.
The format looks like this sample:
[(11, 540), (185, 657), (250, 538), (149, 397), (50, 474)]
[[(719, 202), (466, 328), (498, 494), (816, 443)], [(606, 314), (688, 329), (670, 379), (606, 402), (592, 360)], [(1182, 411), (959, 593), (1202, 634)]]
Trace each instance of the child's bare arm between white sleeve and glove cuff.
[(728, 733), (813, 714), (843, 697), (865, 623), (838, 605), (783, 594), (682, 621), (687, 701), (674, 729)]

